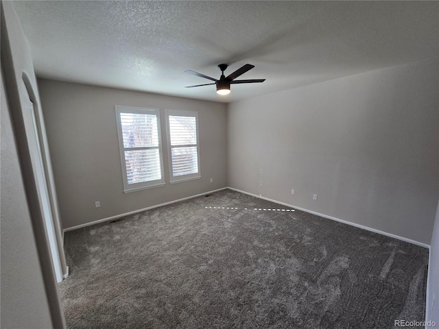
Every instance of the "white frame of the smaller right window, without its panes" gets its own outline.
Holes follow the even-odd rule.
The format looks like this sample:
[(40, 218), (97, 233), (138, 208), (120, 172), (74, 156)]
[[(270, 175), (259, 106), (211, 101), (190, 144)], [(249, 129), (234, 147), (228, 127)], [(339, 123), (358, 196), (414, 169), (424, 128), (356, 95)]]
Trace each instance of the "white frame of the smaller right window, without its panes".
[[(195, 117), (195, 125), (196, 125), (196, 134), (197, 134), (197, 144), (196, 145), (178, 145), (174, 147), (187, 147), (187, 146), (196, 146), (197, 147), (197, 160), (198, 160), (198, 172), (190, 173), (187, 175), (178, 175), (174, 176), (172, 171), (172, 149), (174, 148), (171, 145), (171, 130), (169, 127), (169, 116), (174, 115), (178, 117)], [(200, 169), (200, 133), (198, 127), (198, 112), (195, 111), (186, 111), (186, 110), (166, 110), (166, 128), (167, 128), (167, 149), (168, 149), (168, 158), (169, 158), (169, 182), (171, 184), (178, 182), (186, 182), (188, 180), (198, 180), (201, 178), (201, 169)]]

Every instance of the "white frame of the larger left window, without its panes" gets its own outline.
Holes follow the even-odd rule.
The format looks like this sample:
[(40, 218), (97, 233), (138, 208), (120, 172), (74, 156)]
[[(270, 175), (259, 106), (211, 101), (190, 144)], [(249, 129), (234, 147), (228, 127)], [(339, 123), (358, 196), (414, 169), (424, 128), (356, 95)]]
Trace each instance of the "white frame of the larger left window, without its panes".
[[(119, 137), (119, 152), (121, 157), (122, 178), (123, 178), (123, 192), (129, 193), (134, 191), (143, 190), (145, 188), (152, 188), (165, 185), (165, 175), (163, 170), (163, 148), (161, 141), (161, 123), (160, 123), (160, 111), (158, 108), (141, 108), (136, 106), (115, 106), (116, 110), (116, 122), (117, 122), (117, 136)], [(154, 114), (157, 117), (157, 133), (158, 133), (158, 147), (137, 147), (127, 148), (123, 146), (122, 127), (121, 127), (121, 113), (137, 113), (137, 114)], [(128, 176), (126, 172), (126, 160), (125, 151), (129, 149), (158, 149), (158, 156), (160, 158), (160, 170), (161, 179), (151, 180), (147, 182), (138, 182), (134, 184), (128, 184)]]

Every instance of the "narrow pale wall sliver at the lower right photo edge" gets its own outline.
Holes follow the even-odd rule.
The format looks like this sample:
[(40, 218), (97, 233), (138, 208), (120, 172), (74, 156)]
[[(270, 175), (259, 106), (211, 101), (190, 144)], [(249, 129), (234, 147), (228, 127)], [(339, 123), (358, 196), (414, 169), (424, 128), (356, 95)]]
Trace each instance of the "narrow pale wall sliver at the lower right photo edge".
[(435, 321), (436, 325), (439, 324), (439, 200), (430, 245), (425, 319)]

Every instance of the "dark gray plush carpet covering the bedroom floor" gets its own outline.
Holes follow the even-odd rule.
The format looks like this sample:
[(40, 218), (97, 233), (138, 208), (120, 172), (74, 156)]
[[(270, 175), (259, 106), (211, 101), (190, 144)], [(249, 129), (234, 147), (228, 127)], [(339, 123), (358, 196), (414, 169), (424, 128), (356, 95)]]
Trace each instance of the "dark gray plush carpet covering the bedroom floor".
[(69, 328), (394, 328), (395, 319), (425, 319), (427, 249), (235, 191), (64, 239)]

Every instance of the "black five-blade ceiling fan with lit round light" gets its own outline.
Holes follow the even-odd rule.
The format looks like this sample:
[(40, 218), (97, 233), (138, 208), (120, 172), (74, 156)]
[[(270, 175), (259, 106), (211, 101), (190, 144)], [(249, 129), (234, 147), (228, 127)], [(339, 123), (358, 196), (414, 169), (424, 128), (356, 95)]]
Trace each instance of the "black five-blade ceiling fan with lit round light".
[[(196, 75), (198, 77), (204, 77), (206, 79), (215, 81), (212, 84), (217, 85), (217, 94), (219, 95), (228, 95), (230, 93), (230, 84), (252, 84), (254, 82), (264, 82), (265, 79), (252, 79), (252, 80), (235, 80), (239, 75), (242, 75), (246, 73), (247, 71), (254, 68), (254, 65), (252, 64), (245, 64), (240, 69), (237, 69), (235, 72), (231, 73), (227, 77), (224, 76), (224, 71), (227, 69), (227, 64), (219, 64), (218, 67), (221, 70), (221, 77), (219, 77), (219, 80), (208, 77), (207, 75), (187, 70), (186, 73)], [(210, 84), (197, 84), (196, 86), (186, 86), (186, 88), (193, 88), (193, 87), (200, 87), (200, 86), (209, 86)]]

